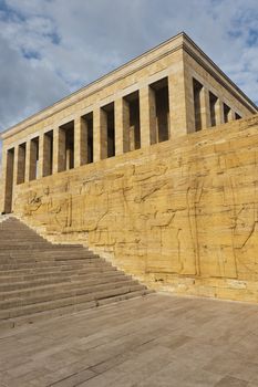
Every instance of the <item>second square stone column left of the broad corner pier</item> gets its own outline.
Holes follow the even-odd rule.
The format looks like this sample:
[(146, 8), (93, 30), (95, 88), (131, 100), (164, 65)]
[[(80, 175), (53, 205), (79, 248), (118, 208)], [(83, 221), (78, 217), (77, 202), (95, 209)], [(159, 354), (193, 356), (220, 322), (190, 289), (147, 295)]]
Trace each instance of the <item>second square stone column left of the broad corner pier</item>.
[(130, 108), (123, 98), (115, 101), (115, 155), (130, 150)]

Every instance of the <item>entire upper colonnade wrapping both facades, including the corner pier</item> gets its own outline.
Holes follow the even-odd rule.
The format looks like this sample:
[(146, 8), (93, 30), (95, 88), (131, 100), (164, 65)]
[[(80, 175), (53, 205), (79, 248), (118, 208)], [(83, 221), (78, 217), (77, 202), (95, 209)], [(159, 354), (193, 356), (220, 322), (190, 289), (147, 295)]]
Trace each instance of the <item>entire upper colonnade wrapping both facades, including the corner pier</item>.
[(185, 80), (168, 74), (9, 148), (3, 163), (7, 209), (13, 185), (240, 118), (199, 81), (192, 79), (187, 87)]

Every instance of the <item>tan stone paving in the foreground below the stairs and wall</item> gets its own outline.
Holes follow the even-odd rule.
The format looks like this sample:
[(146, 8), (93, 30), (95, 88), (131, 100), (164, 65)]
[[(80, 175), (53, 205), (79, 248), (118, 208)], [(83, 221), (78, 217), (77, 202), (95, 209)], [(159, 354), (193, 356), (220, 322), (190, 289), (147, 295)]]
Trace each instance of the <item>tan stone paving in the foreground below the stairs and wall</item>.
[(255, 387), (258, 305), (149, 294), (0, 333), (0, 387)]

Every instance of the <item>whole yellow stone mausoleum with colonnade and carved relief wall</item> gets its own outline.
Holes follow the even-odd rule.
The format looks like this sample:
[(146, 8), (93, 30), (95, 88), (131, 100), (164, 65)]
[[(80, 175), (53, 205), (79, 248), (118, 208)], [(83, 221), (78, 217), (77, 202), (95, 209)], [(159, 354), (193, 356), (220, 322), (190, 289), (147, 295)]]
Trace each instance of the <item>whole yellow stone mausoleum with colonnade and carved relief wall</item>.
[(179, 33), (1, 134), (1, 212), (151, 287), (258, 301), (257, 113)]

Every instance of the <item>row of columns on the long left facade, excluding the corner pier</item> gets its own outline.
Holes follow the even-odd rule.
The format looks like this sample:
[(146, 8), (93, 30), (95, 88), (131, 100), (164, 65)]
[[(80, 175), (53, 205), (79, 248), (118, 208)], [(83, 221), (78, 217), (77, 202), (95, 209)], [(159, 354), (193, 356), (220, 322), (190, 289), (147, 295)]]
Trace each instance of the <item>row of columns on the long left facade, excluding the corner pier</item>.
[(14, 184), (169, 139), (173, 86), (167, 76), (16, 145)]

